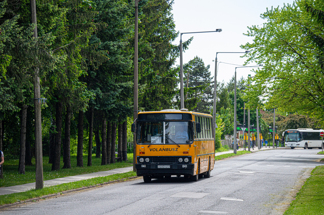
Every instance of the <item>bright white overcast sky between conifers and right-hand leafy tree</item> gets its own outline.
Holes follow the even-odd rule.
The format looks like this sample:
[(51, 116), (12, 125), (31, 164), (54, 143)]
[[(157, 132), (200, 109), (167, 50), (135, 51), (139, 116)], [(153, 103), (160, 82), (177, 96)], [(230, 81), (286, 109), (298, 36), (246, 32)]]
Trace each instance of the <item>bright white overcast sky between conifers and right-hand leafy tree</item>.
[[(241, 52), (239, 46), (252, 42), (251, 37), (243, 35), (248, 26), (261, 25), (265, 20), (260, 14), (268, 7), (282, 7), (284, 3), (293, 3), (292, 0), (175, 0), (173, 17), (176, 30), (179, 32), (213, 31), (222, 28), (222, 32), (183, 34), (182, 41), (193, 36), (189, 49), (183, 53), (183, 62), (186, 63), (196, 55), (203, 59), (205, 65), (210, 64), (210, 71), (214, 76), (216, 52)], [(180, 36), (174, 41), (179, 44)], [(243, 54), (242, 54), (243, 55)], [(218, 54), (218, 62), (243, 65), (245, 58), (240, 54)], [(180, 64), (179, 58), (177, 63)], [(249, 66), (254, 66), (255, 63)], [(234, 65), (219, 64), (217, 81), (229, 81), (235, 72)], [(254, 75), (250, 68), (237, 69), (237, 78), (247, 78)]]

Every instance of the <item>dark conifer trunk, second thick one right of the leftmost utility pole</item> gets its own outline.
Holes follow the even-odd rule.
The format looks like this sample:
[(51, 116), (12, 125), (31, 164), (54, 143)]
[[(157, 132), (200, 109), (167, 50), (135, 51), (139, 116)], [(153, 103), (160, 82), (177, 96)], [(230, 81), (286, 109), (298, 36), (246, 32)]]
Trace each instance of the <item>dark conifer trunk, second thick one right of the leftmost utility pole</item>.
[(70, 154), (70, 127), (71, 127), (71, 105), (67, 102), (65, 114), (65, 132), (64, 132), (64, 166), (63, 169), (71, 168)]

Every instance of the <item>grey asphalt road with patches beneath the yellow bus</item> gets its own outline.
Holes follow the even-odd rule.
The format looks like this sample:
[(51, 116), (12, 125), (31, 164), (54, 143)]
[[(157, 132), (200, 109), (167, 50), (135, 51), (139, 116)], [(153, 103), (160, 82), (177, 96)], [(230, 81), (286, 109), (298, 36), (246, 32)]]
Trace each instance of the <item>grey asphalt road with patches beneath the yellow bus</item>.
[[(324, 155), (276, 149), (215, 162), (212, 177), (191, 182), (142, 179), (30, 203), (0, 214), (282, 214), (301, 179)], [(234, 200), (233, 200), (234, 199)]]

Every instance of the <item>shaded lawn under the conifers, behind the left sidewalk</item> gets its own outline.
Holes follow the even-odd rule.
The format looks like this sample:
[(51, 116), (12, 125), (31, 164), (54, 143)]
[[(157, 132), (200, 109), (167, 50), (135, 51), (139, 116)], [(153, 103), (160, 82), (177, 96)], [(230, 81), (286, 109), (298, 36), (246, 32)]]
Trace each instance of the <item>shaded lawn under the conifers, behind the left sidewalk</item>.
[[(61, 169), (59, 171), (51, 171), (52, 164), (48, 163), (48, 156), (43, 157), (43, 174), (44, 180), (50, 180), (54, 178), (61, 178), (66, 176), (75, 176), (86, 173), (93, 173), (99, 171), (106, 171), (115, 168), (130, 167), (133, 163), (133, 154), (127, 155), (128, 161), (121, 163), (115, 163), (110, 165), (101, 166), (101, 158), (92, 156), (92, 167), (87, 167), (88, 158), (87, 155), (83, 155), (84, 167), (76, 167), (76, 156), (71, 156), (71, 169), (62, 169), (63, 157), (61, 157)], [(0, 179), (0, 187), (9, 187), (20, 184), (27, 184), (35, 182), (35, 165), (25, 167), (25, 175), (18, 173), (19, 160), (5, 160), (3, 164), (4, 179)], [(32, 163), (35, 164), (35, 158), (32, 159)]]

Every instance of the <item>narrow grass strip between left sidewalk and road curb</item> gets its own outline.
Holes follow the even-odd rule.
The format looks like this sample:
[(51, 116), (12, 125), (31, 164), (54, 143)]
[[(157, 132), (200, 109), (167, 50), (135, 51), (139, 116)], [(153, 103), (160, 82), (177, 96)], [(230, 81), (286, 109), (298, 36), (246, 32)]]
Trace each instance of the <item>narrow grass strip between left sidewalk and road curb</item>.
[(15, 203), (15, 202), (24, 201), (27, 199), (32, 199), (32, 198), (42, 197), (45, 195), (63, 192), (66, 190), (88, 187), (88, 186), (92, 186), (92, 185), (96, 185), (96, 184), (101, 184), (104, 182), (119, 180), (122, 178), (128, 178), (128, 177), (133, 177), (133, 176), (136, 176), (136, 172), (130, 171), (130, 172), (119, 173), (119, 174), (114, 174), (114, 175), (110, 175), (110, 176), (95, 177), (95, 178), (90, 178), (87, 180), (81, 180), (81, 181), (64, 183), (64, 184), (60, 184), (60, 185), (54, 185), (54, 186), (50, 186), (50, 187), (45, 187), (43, 189), (37, 189), (37, 190), (32, 189), (32, 190), (28, 190), (28, 191), (21, 192), (21, 193), (0, 195), (0, 205), (11, 204), (11, 203)]

